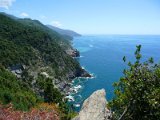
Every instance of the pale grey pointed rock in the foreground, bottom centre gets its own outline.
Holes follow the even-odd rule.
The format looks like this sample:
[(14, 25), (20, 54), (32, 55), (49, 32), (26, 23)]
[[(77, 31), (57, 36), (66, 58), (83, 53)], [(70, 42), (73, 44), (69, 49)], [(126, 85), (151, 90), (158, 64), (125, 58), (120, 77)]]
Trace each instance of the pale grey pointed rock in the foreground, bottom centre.
[(95, 91), (87, 98), (79, 115), (73, 120), (110, 120), (111, 112), (107, 109), (104, 89)]

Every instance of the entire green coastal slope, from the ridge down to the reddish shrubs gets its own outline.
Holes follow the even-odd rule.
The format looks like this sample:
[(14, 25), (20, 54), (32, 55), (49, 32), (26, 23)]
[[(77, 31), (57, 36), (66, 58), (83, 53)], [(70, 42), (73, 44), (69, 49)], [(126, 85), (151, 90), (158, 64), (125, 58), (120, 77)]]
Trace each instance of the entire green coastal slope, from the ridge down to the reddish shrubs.
[(54, 104), (61, 119), (70, 119), (75, 113), (59, 84), (81, 75), (79, 63), (66, 53), (73, 49), (71, 39), (37, 20), (5, 13), (0, 18), (0, 104), (21, 111)]

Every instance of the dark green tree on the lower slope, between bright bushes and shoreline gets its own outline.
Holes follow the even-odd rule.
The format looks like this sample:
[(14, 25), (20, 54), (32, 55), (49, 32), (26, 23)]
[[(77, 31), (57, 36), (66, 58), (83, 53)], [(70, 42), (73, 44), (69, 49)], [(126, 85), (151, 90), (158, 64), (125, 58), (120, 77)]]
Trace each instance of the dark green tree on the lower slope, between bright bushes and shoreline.
[(66, 101), (63, 100), (63, 94), (54, 87), (50, 78), (39, 75), (36, 84), (39, 89), (44, 91), (44, 102), (49, 104), (57, 103), (59, 105), (61, 118), (63, 120), (70, 120), (75, 115), (75, 112), (73, 112), (66, 104)]

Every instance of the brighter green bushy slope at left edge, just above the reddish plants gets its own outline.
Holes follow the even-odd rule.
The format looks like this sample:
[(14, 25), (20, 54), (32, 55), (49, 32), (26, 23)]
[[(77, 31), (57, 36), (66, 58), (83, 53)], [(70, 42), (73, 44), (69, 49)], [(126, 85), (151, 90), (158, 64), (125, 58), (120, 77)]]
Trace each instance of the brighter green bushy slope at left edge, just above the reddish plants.
[(3, 104), (11, 102), (15, 109), (29, 110), (41, 100), (26, 84), (0, 65), (0, 101)]

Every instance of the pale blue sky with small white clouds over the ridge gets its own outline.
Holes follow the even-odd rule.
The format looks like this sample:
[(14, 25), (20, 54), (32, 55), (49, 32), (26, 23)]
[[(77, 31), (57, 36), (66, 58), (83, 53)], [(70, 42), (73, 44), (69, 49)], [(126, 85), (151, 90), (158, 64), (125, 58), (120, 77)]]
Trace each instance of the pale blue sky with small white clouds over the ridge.
[(160, 35), (160, 0), (0, 0), (0, 11), (81, 34)]

